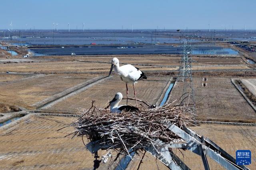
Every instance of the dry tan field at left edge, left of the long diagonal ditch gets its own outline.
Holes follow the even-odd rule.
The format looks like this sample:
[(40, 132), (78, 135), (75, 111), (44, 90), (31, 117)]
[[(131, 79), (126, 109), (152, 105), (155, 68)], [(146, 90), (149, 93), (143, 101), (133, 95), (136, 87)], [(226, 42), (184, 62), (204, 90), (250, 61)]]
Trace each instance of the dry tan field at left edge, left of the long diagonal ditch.
[(33, 109), (34, 103), (91, 78), (90, 75), (53, 74), (2, 84), (0, 86), (0, 101), (9, 105)]

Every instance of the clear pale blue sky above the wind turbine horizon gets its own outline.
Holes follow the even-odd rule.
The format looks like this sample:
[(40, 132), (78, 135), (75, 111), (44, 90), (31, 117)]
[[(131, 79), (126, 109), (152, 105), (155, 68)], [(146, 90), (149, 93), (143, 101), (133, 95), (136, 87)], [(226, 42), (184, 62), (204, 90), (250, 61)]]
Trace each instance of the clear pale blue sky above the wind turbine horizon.
[[(256, 29), (256, 0), (1, 0), (0, 29)], [(27, 24), (27, 26), (26, 26)]]

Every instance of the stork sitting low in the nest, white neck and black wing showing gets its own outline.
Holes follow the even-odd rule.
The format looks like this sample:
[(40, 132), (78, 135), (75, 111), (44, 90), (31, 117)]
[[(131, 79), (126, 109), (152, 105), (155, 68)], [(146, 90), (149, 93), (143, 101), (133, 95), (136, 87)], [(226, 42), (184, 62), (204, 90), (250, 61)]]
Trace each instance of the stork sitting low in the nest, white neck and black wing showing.
[(122, 111), (138, 111), (139, 110), (137, 107), (129, 106), (129, 105), (118, 106), (122, 98), (123, 98), (122, 93), (118, 92), (116, 93), (114, 99), (112, 99), (112, 101), (109, 102), (111, 113), (122, 113)]

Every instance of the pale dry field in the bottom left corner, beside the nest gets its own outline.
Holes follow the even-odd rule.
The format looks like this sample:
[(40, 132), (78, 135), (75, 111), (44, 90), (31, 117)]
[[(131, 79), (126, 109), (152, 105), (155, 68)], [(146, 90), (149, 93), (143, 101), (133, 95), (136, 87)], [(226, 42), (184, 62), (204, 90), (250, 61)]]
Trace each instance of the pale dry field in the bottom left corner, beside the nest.
[[(64, 137), (72, 128), (57, 131), (76, 118), (31, 117), (0, 130), (0, 169), (93, 169), (93, 155), (82, 138)], [(106, 151), (99, 151), (102, 156)], [(106, 170), (108, 164), (100, 164)]]

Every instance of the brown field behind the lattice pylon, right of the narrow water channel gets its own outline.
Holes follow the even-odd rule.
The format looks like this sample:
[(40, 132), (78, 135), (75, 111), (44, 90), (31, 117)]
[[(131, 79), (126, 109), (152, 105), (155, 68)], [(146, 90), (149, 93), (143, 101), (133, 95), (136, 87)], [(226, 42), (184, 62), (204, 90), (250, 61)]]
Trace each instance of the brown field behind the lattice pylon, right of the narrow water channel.
[[(256, 113), (229, 78), (194, 77), (197, 119), (231, 122), (256, 122)], [(204, 86), (205, 85), (205, 86)], [(183, 83), (176, 82), (170, 99), (182, 95)]]

